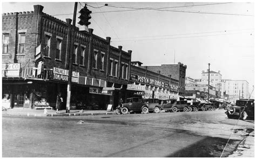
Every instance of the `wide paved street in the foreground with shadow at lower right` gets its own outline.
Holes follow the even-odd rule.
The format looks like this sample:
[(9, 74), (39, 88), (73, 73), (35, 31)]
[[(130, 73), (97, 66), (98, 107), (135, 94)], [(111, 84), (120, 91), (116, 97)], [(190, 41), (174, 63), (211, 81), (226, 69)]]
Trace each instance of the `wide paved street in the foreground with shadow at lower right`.
[[(83, 121), (83, 122), (79, 122)], [(70, 117), (2, 117), (3, 157), (223, 157), (254, 121), (224, 110)]]

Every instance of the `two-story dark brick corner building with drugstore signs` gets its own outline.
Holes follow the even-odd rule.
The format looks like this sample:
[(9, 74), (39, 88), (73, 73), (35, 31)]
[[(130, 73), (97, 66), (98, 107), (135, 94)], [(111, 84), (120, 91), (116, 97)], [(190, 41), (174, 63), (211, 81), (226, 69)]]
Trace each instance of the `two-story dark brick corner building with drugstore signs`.
[(111, 46), (110, 37), (79, 31), (71, 19), (49, 16), (41, 5), (3, 13), (2, 24), (2, 98), (10, 107), (55, 107), (58, 92), (65, 101), (70, 56), (71, 107), (105, 109), (127, 95), (132, 51)]

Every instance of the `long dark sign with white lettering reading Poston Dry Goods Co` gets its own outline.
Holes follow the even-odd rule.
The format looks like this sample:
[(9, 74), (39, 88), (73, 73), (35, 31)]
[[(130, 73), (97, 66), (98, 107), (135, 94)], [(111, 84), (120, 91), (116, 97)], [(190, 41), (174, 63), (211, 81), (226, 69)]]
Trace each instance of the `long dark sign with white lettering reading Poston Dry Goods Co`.
[(131, 80), (140, 82), (142, 84), (152, 85), (152, 86), (158, 86), (158, 87), (165, 87), (165, 83), (161, 82), (159, 80), (143, 77), (141, 75), (133, 74), (131, 73)]

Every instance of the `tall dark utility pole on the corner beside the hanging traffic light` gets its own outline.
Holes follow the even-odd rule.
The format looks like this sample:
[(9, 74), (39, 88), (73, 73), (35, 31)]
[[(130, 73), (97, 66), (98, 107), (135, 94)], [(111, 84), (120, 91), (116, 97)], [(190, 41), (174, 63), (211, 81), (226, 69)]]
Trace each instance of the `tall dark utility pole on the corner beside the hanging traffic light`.
[(66, 113), (70, 113), (70, 98), (71, 98), (71, 79), (72, 79), (72, 56), (73, 56), (73, 44), (74, 44), (74, 34), (76, 27), (76, 15), (77, 15), (77, 2), (75, 2), (74, 12), (73, 12), (73, 24), (71, 26), (71, 37), (68, 41), (68, 45), (70, 46), (69, 52), (69, 78), (68, 78), (68, 87), (66, 94)]

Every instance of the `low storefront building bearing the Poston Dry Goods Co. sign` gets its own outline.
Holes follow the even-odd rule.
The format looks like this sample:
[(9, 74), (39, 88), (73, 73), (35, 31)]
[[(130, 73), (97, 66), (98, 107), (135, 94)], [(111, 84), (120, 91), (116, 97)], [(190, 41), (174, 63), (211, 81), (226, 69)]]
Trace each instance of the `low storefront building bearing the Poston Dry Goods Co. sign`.
[(143, 98), (179, 99), (179, 81), (143, 68), (141, 62), (131, 62), (130, 84), (127, 89), (142, 92)]

